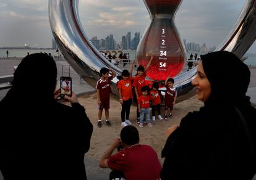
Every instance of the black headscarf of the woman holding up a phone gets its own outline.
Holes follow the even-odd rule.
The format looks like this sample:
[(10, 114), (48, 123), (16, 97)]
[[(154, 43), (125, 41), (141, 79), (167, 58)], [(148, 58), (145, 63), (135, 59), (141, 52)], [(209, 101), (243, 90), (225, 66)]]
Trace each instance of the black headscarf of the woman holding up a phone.
[(57, 67), (53, 57), (43, 53), (27, 55), (15, 70), (13, 86), (1, 103), (23, 104), (24, 100), (35, 102), (36, 99), (43, 103), (54, 100), (56, 78)]

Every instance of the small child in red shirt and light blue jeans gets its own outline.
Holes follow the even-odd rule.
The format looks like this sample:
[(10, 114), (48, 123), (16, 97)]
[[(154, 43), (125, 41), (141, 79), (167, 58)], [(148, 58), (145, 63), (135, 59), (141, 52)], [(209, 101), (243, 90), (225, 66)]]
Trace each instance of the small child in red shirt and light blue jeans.
[(146, 123), (149, 127), (153, 127), (150, 123), (150, 100), (151, 96), (149, 95), (150, 87), (143, 86), (142, 87), (142, 96), (139, 97), (138, 107), (140, 113), (140, 128), (143, 128), (143, 119), (145, 117)]

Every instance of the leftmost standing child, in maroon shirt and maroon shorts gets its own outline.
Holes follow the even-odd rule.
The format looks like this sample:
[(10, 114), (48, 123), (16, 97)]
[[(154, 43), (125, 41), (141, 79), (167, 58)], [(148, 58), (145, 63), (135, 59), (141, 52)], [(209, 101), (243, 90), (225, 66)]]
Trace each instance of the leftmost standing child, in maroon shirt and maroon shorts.
[[(109, 76), (109, 71), (112, 72), (112, 75)], [(97, 102), (98, 102), (98, 128), (101, 128), (101, 117), (103, 108), (105, 109), (105, 117), (106, 117), (106, 124), (111, 126), (109, 118), (109, 99), (110, 99), (110, 81), (116, 77), (116, 73), (111, 68), (101, 68), (100, 70), (100, 80), (96, 83), (97, 89)]]

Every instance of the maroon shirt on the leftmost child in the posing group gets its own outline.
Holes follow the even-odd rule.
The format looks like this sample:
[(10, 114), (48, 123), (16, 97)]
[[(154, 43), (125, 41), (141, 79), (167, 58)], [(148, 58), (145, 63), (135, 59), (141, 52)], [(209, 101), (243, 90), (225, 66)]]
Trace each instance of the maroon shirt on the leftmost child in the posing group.
[(96, 89), (100, 89), (100, 99), (109, 98), (110, 94), (110, 81), (113, 80), (113, 76), (109, 76), (105, 81), (98, 80), (96, 83)]

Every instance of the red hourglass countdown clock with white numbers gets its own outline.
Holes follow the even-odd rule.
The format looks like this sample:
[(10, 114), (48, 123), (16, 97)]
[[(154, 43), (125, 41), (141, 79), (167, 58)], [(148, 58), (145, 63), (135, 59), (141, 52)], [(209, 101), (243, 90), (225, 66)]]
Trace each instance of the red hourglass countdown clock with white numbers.
[(150, 14), (151, 23), (137, 47), (139, 65), (147, 66), (151, 54), (154, 58), (147, 76), (152, 80), (166, 80), (181, 72), (186, 53), (174, 25), (181, 0), (143, 0)]

